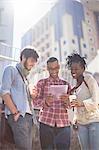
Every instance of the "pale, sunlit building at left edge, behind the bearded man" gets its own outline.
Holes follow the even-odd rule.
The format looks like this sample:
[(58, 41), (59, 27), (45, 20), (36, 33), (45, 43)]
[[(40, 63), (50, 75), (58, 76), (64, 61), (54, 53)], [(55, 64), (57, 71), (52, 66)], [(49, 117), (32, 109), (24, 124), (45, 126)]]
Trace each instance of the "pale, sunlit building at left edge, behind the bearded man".
[(12, 57), (13, 24), (14, 10), (12, 2), (10, 0), (0, 0), (0, 84), (4, 66), (10, 63)]

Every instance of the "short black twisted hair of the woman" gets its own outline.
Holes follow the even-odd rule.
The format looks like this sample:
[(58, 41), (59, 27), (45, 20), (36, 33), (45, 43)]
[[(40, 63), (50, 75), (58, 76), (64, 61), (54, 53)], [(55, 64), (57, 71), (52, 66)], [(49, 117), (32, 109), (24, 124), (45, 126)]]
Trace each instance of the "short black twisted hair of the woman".
[(71, 65), (73, 63), (80, 63), (84, 69), (87, 66), (85, 57), (81, 57), (78, 53), (72, 53), (66, 58), (66, 66), (68, 67), (68, 69), (71, 69)]

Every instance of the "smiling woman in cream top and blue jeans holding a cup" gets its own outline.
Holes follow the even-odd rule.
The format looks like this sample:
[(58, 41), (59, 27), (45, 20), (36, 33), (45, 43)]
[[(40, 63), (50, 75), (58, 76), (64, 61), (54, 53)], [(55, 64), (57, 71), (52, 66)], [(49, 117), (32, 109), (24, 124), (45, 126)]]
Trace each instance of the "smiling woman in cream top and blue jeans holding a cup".
[(78, 138), (82, 150), (99, 150), (99, 88), (91, 74), (86, 74), (86, 61), (77, 53), (66, 59), (71, 75), (76, 79), (76, 99), (71, 105), (76, 107), (74, 122), (78, 124)]

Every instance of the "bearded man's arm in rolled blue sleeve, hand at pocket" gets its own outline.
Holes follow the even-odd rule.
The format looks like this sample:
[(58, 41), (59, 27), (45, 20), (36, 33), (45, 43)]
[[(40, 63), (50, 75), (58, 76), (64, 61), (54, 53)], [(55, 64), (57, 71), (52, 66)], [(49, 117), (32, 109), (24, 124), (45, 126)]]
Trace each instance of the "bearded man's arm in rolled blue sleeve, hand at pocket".
[(0, 94), (2, 99), (4, 100), (5, 105), (8, 107), (10, 110), (11, 114), (14, 116), (14, 120), (16, 120), (19, 111), (17, 110), (17, 107), (13, 103), (13, 100), (11, 98), (11, 86), (12, 82), (14, 81), (14, 69), (12, 66), (8, 66), (5, 68), (3, 77), (2, 77), (2, 86), (0, 89)]

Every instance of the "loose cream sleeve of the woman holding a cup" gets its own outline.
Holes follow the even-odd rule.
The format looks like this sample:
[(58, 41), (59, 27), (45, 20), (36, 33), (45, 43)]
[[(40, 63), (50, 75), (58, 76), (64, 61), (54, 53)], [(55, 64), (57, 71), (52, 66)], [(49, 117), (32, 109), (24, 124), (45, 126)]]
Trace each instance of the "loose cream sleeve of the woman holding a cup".
[(91, 97), (88, 99), (85, 99), (83, 101), (87, 111), (92, 111), (98, 108), (98, 104), (99, 104), (99, 87), (97, 84), (97, 81), (94, 79), (93, 76), (90, 76), (89, 79), (85, 80), (87, 85), (88, 85), (88, 89), (90, 91), (90, 95)]

